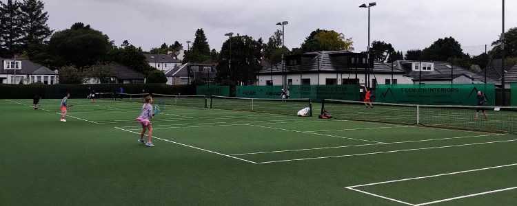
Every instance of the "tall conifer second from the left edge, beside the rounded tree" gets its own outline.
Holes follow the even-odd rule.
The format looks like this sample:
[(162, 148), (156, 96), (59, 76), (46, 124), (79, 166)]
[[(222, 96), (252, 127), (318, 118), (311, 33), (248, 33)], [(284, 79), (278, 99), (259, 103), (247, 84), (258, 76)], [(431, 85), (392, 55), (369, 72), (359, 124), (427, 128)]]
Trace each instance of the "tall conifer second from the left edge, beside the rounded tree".
[[(48, 12), (43, 12), (45, 4), (39, 0), (24, 0), (21, 4), (21, 25), (25, 49), (34, 49), (52, 35), (53, 30), (47, 25)], [(29, 56), (41, 51), (30, 50)]]

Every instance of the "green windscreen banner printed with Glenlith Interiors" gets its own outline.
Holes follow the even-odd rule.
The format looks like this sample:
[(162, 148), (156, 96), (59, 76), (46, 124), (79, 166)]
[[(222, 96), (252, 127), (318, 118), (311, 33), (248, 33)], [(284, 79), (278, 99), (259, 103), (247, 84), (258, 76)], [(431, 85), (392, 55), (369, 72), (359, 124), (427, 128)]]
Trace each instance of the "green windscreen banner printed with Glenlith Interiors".
[(485, 105), (495, 105), (495, 84), (378, 84), (376, 102), (430, 105), (477, 105), (477, 93), (485, 93)]

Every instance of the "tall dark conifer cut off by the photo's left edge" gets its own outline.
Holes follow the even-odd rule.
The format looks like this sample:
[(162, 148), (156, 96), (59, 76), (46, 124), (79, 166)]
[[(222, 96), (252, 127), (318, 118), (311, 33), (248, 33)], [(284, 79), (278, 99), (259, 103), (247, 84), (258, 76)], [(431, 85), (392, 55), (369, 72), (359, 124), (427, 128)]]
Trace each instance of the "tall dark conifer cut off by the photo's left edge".
[(21, 52), (23, 42), (20, 3), (0, 1), (0, 47), (8, 49), (10, 56)]

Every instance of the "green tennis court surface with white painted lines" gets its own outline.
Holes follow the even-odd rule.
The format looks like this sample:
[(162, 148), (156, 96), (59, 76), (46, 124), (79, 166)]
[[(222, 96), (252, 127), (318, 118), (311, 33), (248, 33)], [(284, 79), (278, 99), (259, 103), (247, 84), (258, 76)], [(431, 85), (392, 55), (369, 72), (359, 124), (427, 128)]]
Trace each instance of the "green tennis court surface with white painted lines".
[[(177, 106), (181, 104), (174, 100), (152, 119), (156, 147), (148, 148), (137, 141), (141, 126), (134, 119), (141, 110), (139, 99), (109, 99), (91, 104), (72, 96), (68, 122), (59, 122), (61, 100), (42, 100), (43, 110), (32, 109), (32, 100), (1, 100), (1, 205), (517, 201), (513, 133), (416, 126), (399, 121), (411, 115), (404, 110), (389, 113), (378, 105), (325, 107), (331, 114), (375, 121), (359, 122), (318, 119), (321, 104), (314, 102), (313, 117), (297, 117), (275, 109), (285, 111), (293, 105), (296, 111), (307, 105), (303, 101), (255, 101), (259, 112), (250, 112), (245, 111), (250, 107), (245, 100), (189, 99), (187, 104), (195, 106)], [(475, 111), (463, 111), (435, 116), (445, 115), (447, 125), (466, 123), (468, 128), (486, 130), (501, 130), (496, 124), (511, 126), (515, 118), (509, 112), (487, 111), (489, 119), (474, 121)], [(361, 119), (388, 118), (386, 113), (397, 124)], [(429, 125), (439, 124), (443, 123)]]

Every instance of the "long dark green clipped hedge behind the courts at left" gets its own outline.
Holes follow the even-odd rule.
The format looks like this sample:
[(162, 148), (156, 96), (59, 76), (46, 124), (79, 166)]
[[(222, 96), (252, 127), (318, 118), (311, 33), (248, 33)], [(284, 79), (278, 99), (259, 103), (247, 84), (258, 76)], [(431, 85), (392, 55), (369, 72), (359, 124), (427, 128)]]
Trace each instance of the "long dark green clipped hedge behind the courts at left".
[(42, 95), (45, 99), (59, 99), (70, 92), (72, 98), (86, 98), (90, 87), (97, 93), (120, 91), (124, 93), (163, 93), (172, 95), (194, 95), (196, 87), (192, 85), (172, 86), (168, 84), (0, 84), (1, 99), (32, 99), (34, 95)]

